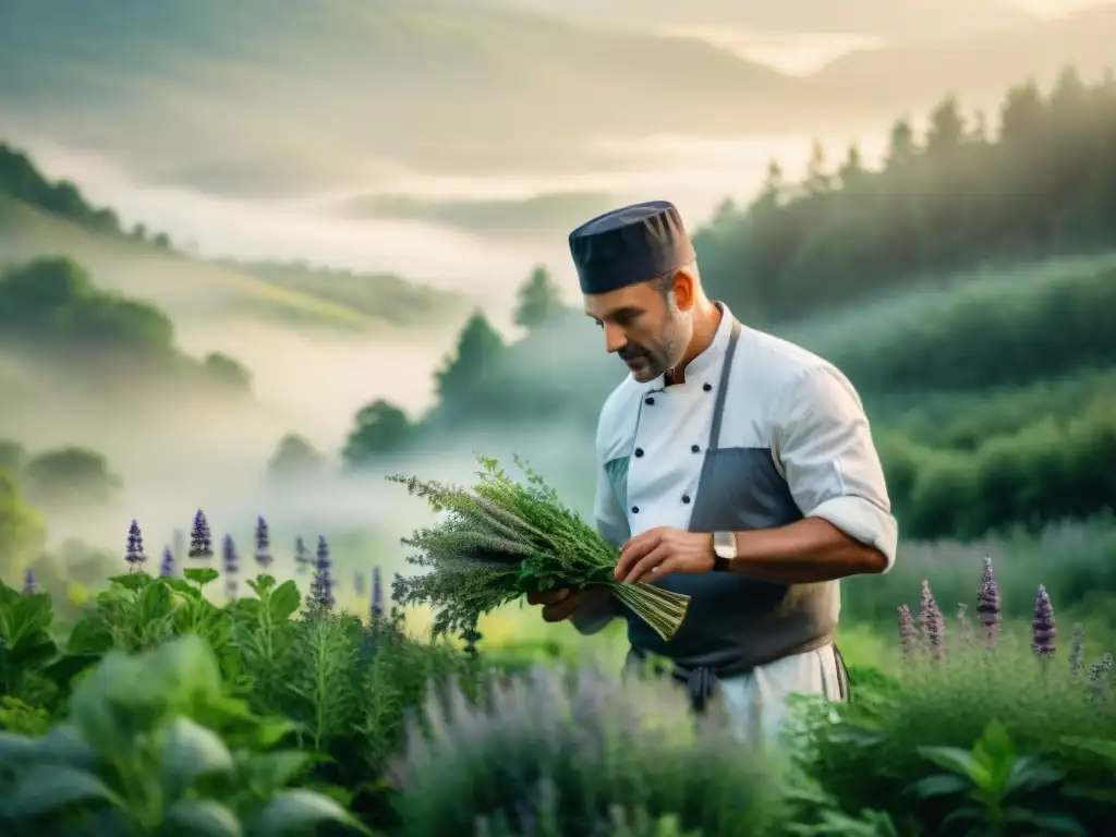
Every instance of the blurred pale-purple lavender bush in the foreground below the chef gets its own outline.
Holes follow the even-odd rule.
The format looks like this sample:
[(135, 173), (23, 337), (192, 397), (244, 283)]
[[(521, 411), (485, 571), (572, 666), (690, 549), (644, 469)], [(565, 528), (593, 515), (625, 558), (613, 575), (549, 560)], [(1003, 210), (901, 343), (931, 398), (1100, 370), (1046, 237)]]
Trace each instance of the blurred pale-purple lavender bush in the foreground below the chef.
[(548, 822), (539, 833), (612, 835), (617, 806), (674, 817), (682, 834), (778, 834), (781, 760), (706, 729), (685, 701), (674, 684), (589, 668), (536, 668), (483, 705), (435, 693), (392, 771), (397, 834), (468, 835), (487, 820), (512, 834)]

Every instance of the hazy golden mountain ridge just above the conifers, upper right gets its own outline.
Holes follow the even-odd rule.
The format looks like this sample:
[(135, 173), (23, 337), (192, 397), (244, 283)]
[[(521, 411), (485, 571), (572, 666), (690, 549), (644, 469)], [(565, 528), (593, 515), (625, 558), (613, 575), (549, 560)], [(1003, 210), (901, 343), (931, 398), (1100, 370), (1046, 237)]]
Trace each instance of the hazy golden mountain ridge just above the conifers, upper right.
[(899, 110), (951, 92), (999, 98), (1029, 77), (1049, 84), (1067, 65), (1085, 76), (1116, 66), (1114, 32), (1116, 3), (1108, 3), (1007, 31), (858, 50), (812, 78), (838, 98), (856, 95)]

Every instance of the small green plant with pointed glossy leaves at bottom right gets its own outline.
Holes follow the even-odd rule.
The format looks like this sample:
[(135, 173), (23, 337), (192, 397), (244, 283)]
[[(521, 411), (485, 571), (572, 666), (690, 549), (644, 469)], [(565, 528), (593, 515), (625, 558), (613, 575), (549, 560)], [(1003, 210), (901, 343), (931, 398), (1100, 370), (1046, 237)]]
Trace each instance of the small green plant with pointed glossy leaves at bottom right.
[(1049, 790), (1062, 775), (1036, 756), (1018, 752), (999, 721), (991, 722), (971, 750), (959, 747), (920, 747), (918, 754), (945, 772), (927, 776), (912, 788), (922, 798), (963, 797), (943, 827), (964, 825), (970, 835), (1001, 837), (1020, 826), (1040, 834), (1086, 835), (1081, 824), (1067, 814), (1031, 810), (1023, 797)]

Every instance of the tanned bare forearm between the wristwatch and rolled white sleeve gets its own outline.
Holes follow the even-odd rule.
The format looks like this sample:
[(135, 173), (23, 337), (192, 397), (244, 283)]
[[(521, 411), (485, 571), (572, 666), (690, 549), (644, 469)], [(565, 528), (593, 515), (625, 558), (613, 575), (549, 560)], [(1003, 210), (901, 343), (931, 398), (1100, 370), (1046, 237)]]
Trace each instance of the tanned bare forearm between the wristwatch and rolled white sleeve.
[(883, 573), (887, 559), (828, 520), (810, 517), (777, 529), (734, 532), (737, 557), (729, 570), (773, 584), (816, 584)]

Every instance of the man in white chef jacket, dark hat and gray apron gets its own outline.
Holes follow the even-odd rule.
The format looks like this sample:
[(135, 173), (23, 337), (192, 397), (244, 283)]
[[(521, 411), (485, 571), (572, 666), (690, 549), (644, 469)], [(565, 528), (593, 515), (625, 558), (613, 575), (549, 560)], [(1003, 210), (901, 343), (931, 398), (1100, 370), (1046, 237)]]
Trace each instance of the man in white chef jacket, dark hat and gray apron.
[(838, 579), (886, 573), (897, 529), (859, 396), (833, 364), (742, 325), (701, 287), (675, 206), (569, 235), (585, 311), (629, 375), (600, 411), (596, 523), (616, 578), (691, 597), (670, 641), (602, 588), (530, 597), (583, 634), (627, 620), (631, 663), (666, 657), (702, 711), (769, 740), (788, 695), (848, 699)]

